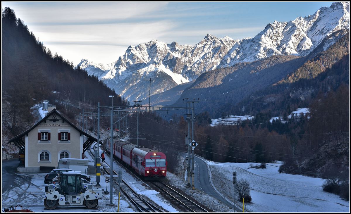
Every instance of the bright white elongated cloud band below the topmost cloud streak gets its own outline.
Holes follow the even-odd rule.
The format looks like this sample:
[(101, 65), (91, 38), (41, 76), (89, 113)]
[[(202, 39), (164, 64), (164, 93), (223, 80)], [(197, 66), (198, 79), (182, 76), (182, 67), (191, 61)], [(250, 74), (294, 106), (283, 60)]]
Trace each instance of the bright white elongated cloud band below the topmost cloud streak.
[[(38, 29), (35, 35), (46, 42), (91, 42), (110, 41), (117, 45), (138, 45), (159, 39), (176, 27), (170, 21), (123, 23), (111, 25), (47, 26)], [(35, 29), (34, 29), (35, 30)]]

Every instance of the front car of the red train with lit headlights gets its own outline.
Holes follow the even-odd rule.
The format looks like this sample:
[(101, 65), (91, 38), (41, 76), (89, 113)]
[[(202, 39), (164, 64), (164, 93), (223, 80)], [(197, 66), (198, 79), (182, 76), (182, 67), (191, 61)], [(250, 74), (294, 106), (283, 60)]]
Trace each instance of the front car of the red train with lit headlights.
[(165, 178), (167, 174), (166, 155), (137, 146), (132, 152), (132, 167), (146, 180)]

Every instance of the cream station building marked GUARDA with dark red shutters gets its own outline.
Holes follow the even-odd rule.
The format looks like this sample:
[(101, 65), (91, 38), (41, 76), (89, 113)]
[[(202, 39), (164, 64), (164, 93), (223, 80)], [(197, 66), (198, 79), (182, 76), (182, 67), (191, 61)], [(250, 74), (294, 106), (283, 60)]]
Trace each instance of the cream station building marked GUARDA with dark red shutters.
[(24, 153), (24, 167), (18, 167), (19, 172), (46, 172), (57, 168), (61, 158), (84, 158), (84, 152), (97, 141), (53, 108), (8, 143), (18, 146)]

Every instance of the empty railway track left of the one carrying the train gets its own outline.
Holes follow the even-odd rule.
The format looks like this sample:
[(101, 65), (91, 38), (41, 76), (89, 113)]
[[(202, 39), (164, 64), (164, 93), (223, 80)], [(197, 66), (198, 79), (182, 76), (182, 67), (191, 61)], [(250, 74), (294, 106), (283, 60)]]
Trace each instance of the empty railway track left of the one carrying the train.
[[(93, 157), (94, 155), (90, 151), (90, 155)], [(110, 166), (105, 162), (101, 163), (102, 169), (101, 172), (104, 174), (110, 175), (111, 169)], [(118, 175), (115, 170), (112, 170), (113, 175)], [(113, 177), (112, 175), (112, 177)], [(117, 179), (113, 178), (112, 185), (115, 189), (118, 189), (118, 184), (117, 184)], [(127, 200), (129, 200), (131, 208), (133, 210), (136, 210), (137, 212), (159, 212), (163, 213), (166, 212), (165, 210), (161, 210), (155, 206), (153, 206), (151, 203), (147, 202), (139, 194), (137, 194), (123, 179), (122, 182), (120, 183), (120, 192), (121, 195), (124, 196)]]

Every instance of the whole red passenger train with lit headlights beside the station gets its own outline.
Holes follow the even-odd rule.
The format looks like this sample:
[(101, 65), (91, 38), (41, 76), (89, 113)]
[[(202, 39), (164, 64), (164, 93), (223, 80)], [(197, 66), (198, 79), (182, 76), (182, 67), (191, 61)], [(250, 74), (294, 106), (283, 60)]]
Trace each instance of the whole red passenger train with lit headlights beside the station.
[[(108, 142), (108, 141), (107, 141)], [(110, 152), (110, 143), (106, 143)], [(131, 143), (113, 140), (113, 156), (132, 167), (145, 179), (162, 179), (167, 174), (166, 155)]]

